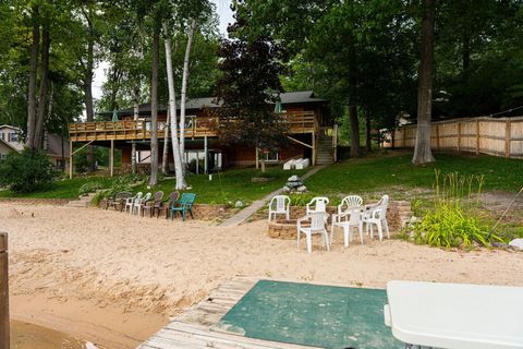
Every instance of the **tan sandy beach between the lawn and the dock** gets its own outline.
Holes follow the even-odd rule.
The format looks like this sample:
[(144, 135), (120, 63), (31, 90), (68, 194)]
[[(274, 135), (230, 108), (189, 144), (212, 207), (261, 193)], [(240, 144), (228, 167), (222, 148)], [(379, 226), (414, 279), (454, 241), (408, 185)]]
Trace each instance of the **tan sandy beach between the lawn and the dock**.
[[(391, 279), (523, 286), (523, 253), (445, 251), (399, 240), (313, 253), (235, 228), (114, 210), (0, 203), (13, 317), (106, 348), (133, 348), (235, 276), (385, 287)], [(304, 245), (302, 245), (304, 248)]]

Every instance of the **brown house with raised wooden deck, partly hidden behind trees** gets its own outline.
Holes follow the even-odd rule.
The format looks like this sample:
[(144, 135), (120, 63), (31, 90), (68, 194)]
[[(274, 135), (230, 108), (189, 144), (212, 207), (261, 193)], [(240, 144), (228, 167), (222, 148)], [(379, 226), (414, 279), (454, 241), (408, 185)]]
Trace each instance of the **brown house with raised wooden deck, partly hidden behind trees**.
[[(207, 110), (220, 108), (216, 98), (194, 98), (186, 103), (185, 159), (195, 163), (199, 172), (220, 168), (252, 166), (262, 157), (269, 163), (283, 163), (291, 158), (309, 158), (313, 164), (328, 164), (336, 160), (336, 125), (328, 118), (328, 100), (317, 98), (312, 91), (284, 93), (280, 95), (281, 116), (288, 125), (289, 144), (277, 152), (265, 154), (248, 146), (220, 144), (211, 124), (217, 120)], [(275, 105), (268, 105), (275, 108)], [(138, 108), (137, 119), (134, 109), (117, 112), (118, 121), (86, 122), (70, 124), (71, 147), (74, 142), (111, 146), (122, 151), (122, 166), (131, 166), (133, 144), (136, 147), (138, 164), (150, 161), (150, 105)], [(101, 113), (108, 119), (113, 112)], [(159, 163), (167, 120), (167, 108), (158, 110)], [(171, 147), (169, 146), (171, 152)], [(172, 153), (169, 154), (172, 163)], [(171, 164), (171, 168), (173, 168)], [(72, 170), (72, 169), (71, 169)]]

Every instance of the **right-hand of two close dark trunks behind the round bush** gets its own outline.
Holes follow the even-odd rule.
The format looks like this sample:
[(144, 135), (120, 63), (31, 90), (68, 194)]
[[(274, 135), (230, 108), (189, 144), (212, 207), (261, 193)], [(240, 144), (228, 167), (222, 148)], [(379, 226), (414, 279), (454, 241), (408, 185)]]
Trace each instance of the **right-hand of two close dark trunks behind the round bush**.
[(35, 148), (41, 147), (44, 136), (44, 123), (46, 120), (46, 97), (47, 85), (49, 83), (49, 48), (51, 46), (51, 38), (49, 35), (49, 25), (44, 25), (41, 32), (41, 65), (40, 65), (40, 87), (38, 91), (38, 112), (36, 116), (35, 128)]

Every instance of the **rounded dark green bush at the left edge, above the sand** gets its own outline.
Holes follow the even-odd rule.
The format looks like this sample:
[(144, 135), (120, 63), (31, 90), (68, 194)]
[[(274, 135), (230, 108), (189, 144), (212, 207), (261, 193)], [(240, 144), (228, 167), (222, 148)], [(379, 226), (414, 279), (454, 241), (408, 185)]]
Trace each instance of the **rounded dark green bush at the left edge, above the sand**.
[(57, 173), (41, 151), (11, 153), (0, 161), (0, 186), (16, 193), (31, 193), (48, 186)]

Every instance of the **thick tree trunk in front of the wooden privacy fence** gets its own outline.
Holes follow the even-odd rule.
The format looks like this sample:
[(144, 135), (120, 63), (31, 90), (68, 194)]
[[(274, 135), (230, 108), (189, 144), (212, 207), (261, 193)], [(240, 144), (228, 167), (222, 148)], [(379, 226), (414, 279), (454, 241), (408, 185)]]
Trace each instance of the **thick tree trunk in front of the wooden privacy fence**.
[(414, 165), (435, 161), (430, 151), (430, 119), (433, 110), (433, 56), (436, 0), (424, 0), (422, 24), (422, 49), (419, 57), (419, 82), (417, 87), (417, 131)]

